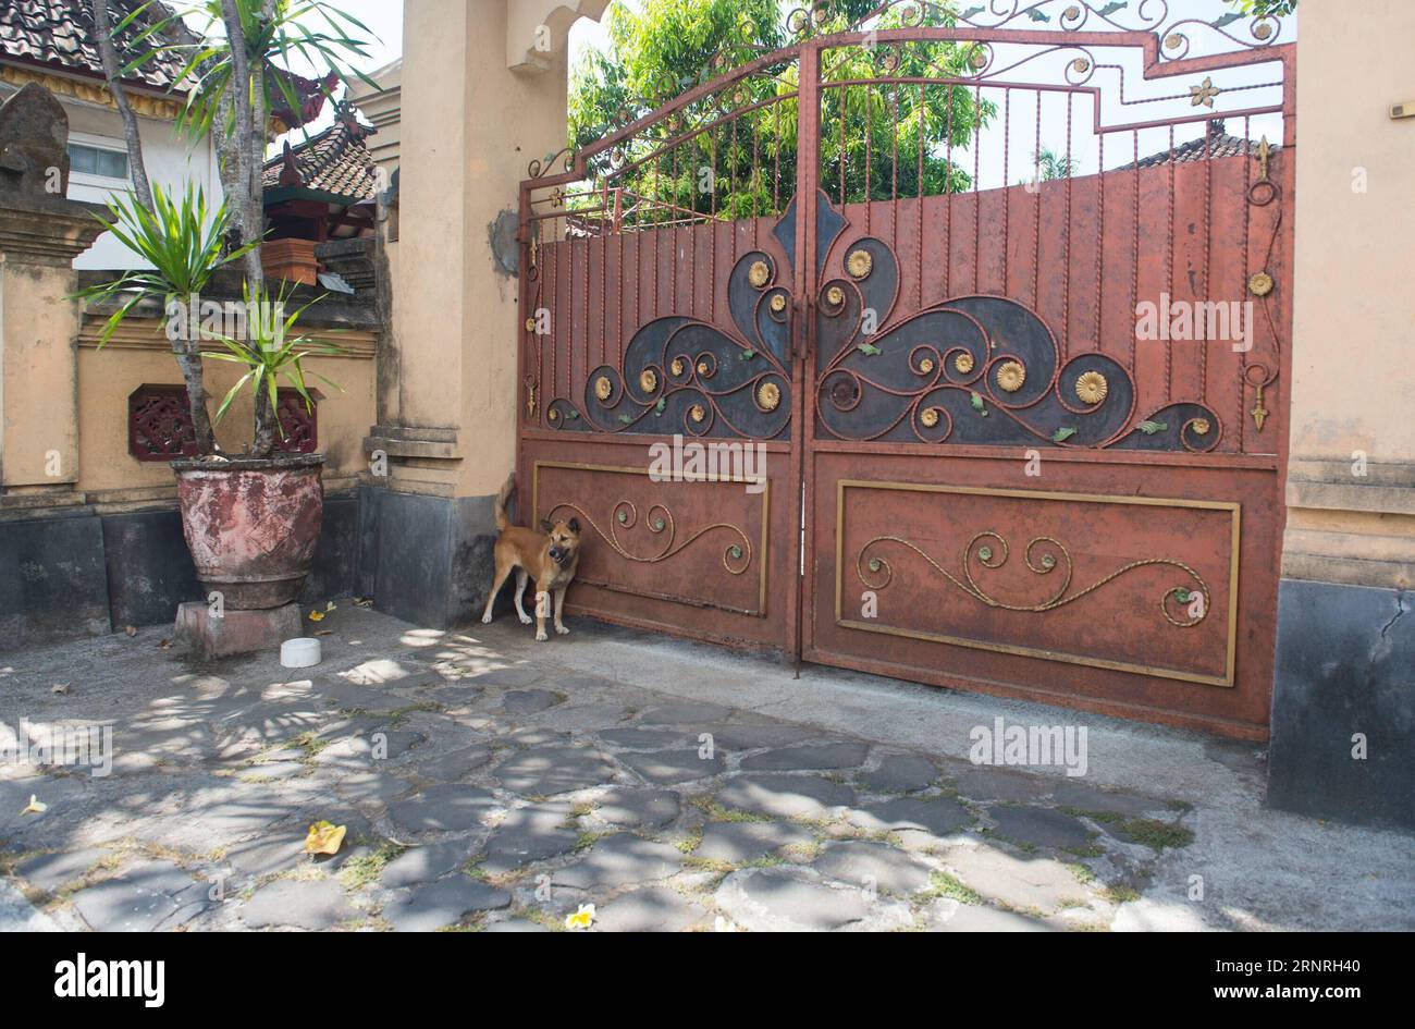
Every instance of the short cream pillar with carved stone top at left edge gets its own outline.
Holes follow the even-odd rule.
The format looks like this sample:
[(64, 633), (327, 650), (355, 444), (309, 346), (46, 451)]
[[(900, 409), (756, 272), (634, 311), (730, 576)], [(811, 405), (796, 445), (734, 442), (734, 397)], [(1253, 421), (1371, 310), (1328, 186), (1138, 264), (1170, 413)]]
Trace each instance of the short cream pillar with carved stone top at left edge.
[(68, 119), (28, 85), (0, 106), (0, 648), (109, 628), (99, 519), (81, 507), (74, 258), (102, 226), (67, 200)]

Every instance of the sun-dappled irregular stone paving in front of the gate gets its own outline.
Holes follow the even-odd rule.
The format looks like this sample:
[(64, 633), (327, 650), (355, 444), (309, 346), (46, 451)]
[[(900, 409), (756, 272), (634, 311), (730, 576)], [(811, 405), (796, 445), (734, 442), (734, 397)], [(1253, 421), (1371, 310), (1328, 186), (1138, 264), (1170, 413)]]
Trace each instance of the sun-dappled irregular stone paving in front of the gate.
[[(559, 664), (576, 637), (330, 621), (307, 677), (190, 662), (156, 630), (0, 660), (0, 720), (113, 725), (109, 776), (0, 769), (0, 870), (35, 917), (559, 931), (593, 903), (593, 931), (1105, 930), (1193, 839), (1183, 801), (584, 674)], [(318, 820), (348, 829), (334, 856), (303, 852)]]

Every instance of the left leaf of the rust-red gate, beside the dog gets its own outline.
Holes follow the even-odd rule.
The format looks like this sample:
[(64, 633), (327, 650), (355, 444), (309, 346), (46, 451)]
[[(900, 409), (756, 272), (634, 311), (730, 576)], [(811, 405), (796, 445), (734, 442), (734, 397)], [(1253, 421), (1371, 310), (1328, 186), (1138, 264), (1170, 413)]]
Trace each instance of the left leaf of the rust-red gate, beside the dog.
[(579, 518), (572, 611), (795, 650), (794, 61), (522, 184), (519, 510)]

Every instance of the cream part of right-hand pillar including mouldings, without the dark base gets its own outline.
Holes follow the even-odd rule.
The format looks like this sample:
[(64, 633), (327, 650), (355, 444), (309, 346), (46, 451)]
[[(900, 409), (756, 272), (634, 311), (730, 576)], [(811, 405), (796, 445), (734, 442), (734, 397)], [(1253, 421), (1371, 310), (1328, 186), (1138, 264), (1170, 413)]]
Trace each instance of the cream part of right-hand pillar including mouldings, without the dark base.
[(1415, 4), (1303, 0), (1300, 17), (1283, 575), (1405, 589), (1415, 586), (1415, 117), (1390, 108), (1415, 102)]

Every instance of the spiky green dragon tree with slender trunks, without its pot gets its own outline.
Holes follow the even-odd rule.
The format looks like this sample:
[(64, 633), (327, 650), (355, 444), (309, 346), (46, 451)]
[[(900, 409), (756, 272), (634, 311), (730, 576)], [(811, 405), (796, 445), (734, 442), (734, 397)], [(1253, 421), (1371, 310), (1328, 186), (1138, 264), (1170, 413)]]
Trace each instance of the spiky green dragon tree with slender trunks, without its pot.
[[(270, 301), (283, 304), (284, 292), (272, 297), (265, 286), (260, 262), (265, 235), (260, 173), (270, 139), (297, 126), (279, 122), (272, 113), (273, 102), (283, 102), (283, 110), (293, 112), (293, 120), (303, 125), (304, 103), (296, 86), (300, 76), (291, 67), (296, 64), (318, 74), (313, 86), (327, 100), (351, 76), (376, 85), (350, 64), (368, 57), (366, 37), (372, 34), (323, 0), (205, 0), (175, 11), (156, 0), (137, 6), (115, 0), (91, 0), (91, 4), (105, 78), (123, 119), (133, 170), (133, 195), (109, 204), (110, 219), (105, 225), (153, 265), (151, 270), (130, 272), (85, 290), (91, 300), (117, 303), (103, 341), (140, 301), (157, 300), (166, 309), (174, 299), (187, 300), (200, 294), (224, 266), (239, 265), (248, 310)], [(194, 31), (191, 24), (201, 28)], [(115, 40), (125, 44), (122, 57)], [(174, 64), (180, 65), (173, 76), (173, 89), (185, 93), (178, 130), (194, 143), (209, 134), (215, 144), (225, 198), (209, 218), (200, 191), (188, 188), (173, 197), (153, 187), (147, 177), (137, 117), (123, 79), (161, 55), (175, 57)], [(218, 452), (207, 409), (202, 358), (246, 367), (238, 389), (249, 386), (255, 406), (255, 436), (248, 456), (265, 459), (273, 453), (280, 437), (276, 379), (283, 375), (310, 403), (301, 360), (311, 352), (331, 352), (303, 337), (284, 340), (308, 306), (289, 320), (248, 317), (239, 338), (207, 331), (168, 333), (183, 371), (198, 454)], [(238, 389), (228, 393), (218, 419)]]

